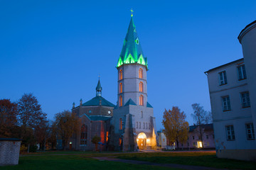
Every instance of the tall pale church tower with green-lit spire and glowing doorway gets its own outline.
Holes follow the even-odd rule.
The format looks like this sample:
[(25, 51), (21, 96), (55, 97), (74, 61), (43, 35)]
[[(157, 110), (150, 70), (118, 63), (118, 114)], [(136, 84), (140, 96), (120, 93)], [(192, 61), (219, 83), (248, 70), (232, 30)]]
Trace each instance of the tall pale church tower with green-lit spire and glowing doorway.
[(123, 151), (156, 147), (156, 123), (147, 99), (147, 71), (147, 58), (132, 15), (117, 62), (117, 106), (112, 118), (114, 145)]

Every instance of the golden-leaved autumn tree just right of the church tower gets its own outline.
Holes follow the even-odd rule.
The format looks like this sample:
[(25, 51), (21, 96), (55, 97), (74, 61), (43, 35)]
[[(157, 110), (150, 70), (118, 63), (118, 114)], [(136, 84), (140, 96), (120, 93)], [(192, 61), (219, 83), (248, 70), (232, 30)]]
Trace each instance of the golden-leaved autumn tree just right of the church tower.
[(162, 124), (164, 125), (164, 135), (170, 142), (184, 143), (188, 140), (188, 122), (185, 120), (186, 115), (178, 107), (173, 107), (169, 111), (164, 111)]

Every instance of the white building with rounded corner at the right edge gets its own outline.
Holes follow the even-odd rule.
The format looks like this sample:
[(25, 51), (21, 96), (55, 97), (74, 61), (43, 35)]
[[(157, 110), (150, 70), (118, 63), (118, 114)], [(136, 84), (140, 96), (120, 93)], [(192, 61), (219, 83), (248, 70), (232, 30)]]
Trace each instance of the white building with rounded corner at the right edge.
[(218, 157), (256, 159), (256, 21), (238, 36), (244, 58), (206, 72)]

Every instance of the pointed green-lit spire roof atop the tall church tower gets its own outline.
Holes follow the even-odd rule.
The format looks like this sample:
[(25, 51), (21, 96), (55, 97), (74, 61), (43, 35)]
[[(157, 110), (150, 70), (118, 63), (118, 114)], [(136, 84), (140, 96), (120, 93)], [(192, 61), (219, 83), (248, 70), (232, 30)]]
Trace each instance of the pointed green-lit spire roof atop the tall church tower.
[(121, 66), (122, 64), (130, 63), (139, 63), (146, 65), (147, 67), (147, 60), (142, 52), (141, 42), (137, 35), (137, 30), (136, 26), (134, 25), (133, 18), (131, 18), (129, 23), (129, 28), (124, 39), (124, 45), (117, 62), (117, 67)]

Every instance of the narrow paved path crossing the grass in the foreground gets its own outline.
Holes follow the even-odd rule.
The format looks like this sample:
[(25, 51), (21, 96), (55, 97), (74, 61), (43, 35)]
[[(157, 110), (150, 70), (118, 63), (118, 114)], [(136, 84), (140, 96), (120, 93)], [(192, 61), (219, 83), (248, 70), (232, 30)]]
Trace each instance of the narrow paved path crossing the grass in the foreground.
[(92, 157), (94, 159), (98, 159), (100, 161), (112, 161), (112, 162), (123, 162), (127, 164), (146, 164), (146, 165), (153, 165), (153, 166), (164, 166), (169, 168), (176, 168), (176, 169), (189, 169), (189, 170), (227, 170), (227, 169), (215, 169), (211, 167), (205, 166), (193, 166), (193, 165), (182, 165), (182, 164), (158, 164), (154, 162), (142, 162), (142, 161), (135, 161), (135, 160), (127, 160), (127, 159), (117, 159), (114, 157)]

